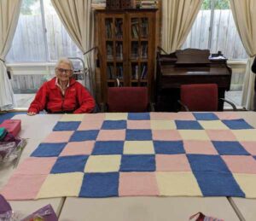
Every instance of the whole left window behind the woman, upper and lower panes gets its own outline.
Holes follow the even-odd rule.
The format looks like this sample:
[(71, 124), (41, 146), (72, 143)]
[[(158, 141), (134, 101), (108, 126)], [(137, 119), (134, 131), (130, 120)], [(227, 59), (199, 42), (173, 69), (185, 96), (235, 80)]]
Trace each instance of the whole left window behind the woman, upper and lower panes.
[(83, 57), (51, 1), (23, 0), (15, 37), (6, 57), (16, 108), (29, 107), (38, 88), (52, 78), (55, 61), (62, 56)]

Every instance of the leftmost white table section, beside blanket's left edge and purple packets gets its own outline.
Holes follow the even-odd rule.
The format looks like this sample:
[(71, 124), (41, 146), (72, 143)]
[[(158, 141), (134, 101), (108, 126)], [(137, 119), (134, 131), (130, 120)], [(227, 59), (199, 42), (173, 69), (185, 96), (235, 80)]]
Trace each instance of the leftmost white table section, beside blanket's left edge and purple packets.
[[(36, 115), (27, 116), (25, 114), (15, 115), (13, 119), (21, 119), (20, 137), (27, 138), (27, 145), (24, 148), (20, 162), (25, 160), (32, 151), (38, 147), (38, 144), (50, 133), (55, 123), (61, 118), (61, 114), (52, 115)], [(19, 163), (20, 163), (19, 162)], [(9, 177), (13, 174), (15, 169), (12, 166), (0, 168), (0, 189), (8, 182)], [(24, 218), (28, 214), (35, 212), (39, 208), (51, 204), (56, 214), (59, 216), (61, 207), (63, 206), (64, 197), (51, 198), (38, 201), (9, 201), (12, 209), (19, 212), (21, 217)]]

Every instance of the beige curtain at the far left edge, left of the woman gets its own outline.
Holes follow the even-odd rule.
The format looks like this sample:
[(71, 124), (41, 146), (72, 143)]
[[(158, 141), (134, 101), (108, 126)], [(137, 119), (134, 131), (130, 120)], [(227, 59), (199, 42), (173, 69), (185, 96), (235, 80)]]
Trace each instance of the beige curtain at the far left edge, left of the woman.
[(20, 15), (21, 0), (0, 0), (0, 110), (15, 106), (12, 85), (7, 75), (4, 58), (15, 35)]

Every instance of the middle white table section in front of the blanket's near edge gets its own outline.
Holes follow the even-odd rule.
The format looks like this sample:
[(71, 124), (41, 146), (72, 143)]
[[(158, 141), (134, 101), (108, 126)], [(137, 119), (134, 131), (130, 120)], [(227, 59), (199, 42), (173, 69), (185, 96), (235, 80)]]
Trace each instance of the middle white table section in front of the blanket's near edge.
[(60, 221), (189, 220), (196, 212), (224, 220), (239, 220), (225, 197), (67, 197)]

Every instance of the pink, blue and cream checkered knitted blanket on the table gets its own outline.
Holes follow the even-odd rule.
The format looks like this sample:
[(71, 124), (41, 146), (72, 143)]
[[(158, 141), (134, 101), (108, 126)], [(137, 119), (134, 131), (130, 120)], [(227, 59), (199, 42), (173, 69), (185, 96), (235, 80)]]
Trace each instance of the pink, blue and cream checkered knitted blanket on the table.
[(2, 194), (256, 198), (255, 187), (256, 130), (236, 113), (96, 113), (64, 115)]

